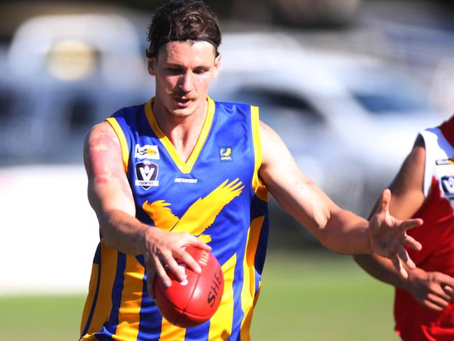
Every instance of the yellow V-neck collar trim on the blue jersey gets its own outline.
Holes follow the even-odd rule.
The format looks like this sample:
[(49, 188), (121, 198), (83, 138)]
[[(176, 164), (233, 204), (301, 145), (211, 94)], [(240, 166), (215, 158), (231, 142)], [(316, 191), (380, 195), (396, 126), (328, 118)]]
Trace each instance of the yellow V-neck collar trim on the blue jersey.
[(191, 170), (197, 161), (198, 155), (200, 154), (200, 150), (202, 150), (202, 147), (205, 144), (205, 140), (207, 139), (208, 133), (210, 133), (211, 124), (213, 122), (214, 117), (215, 104), (214, 101), (209, 96), (207, 96), (207, 101), (208, 101), (207, 117), (205, 117), (205, 122), (203, 122), (202, 131), (200, 131), (200, 135), (198, 136), (196, 145), (194, 146), (191, 155), (189, 155), (189, 158), (186, 161), (183, 161), (180, 158), (180, 155), (175, 150), (173, 144), (167, 138), (166, 134), (163, 133), (161, 128), (159, 128), (159, 125), (156, 122), (156, 117), (154, 117), (152, 109), (154, 98), (145, 104), (145, 115), (147, 116), (149, 125), (152, 126), (154, 133), (159, 138), (159, 140), (161, 140), (161, 143), (163, 144), (164, 147), (166, 147), (166, 150), (170, 154), (170, 157), (172, 157), (177, 167), (180, 168), (180, 171), (184, 174), (191, 173)]

